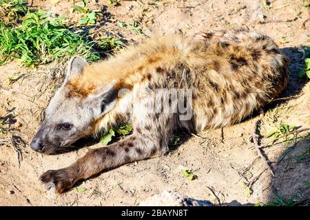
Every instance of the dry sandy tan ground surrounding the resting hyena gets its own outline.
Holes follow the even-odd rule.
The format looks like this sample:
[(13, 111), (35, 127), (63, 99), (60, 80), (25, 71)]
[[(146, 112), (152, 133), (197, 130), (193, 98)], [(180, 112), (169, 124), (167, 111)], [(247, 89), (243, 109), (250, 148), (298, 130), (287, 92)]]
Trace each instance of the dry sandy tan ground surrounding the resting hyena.
[[(69, 10), (72, 2), (32, 1), (32, 6), (76, 19), (77, 15)], [(300, 48), (310, 45), (309, 8), (302, 7), (301, 1), (271, 1), (270, 10), (265, 10), (261, 1), (241, 0), (141, 0), (121, 1), (118, 6), (107, 5), (106, 1), (88, 2), (89, 8), (101, 9), (104, 14), (94, 37), (110, 32), (127, 43), (139, 42), (145, 37), (116, 25), (116, 21), (130, 23), (132, 18), (139, 22), (146, 36), (171, 32), (194, 34), (200, 30), (237, 27), (268, 34), (291, 58), (291, 79), (282, 97), (294, 97), (272, 102), (265, 108), (260, 133), (264, 135), (280, 122), (302, 128), (310, 126), (310, 83), (297, 76), (303, 62)], [(189, 137), (180, 146), (172, 147), (163, 157), (127, 164), (83, 181), (79, 187), (85, 188), (84, 192), (73, 188), (51, 198), (39, 183), (39, 175), (49, 169), (68, 166), (90, 148), (101, 144), (88, 142), (84, 148), (61, 155), (41, 155), (32, 151), (28, 143), (37, 130), (41, 111), (61, 82), (64, 67), (51, 64), (26, 69), (17, 62), (0, 67), (0, 117), (6, 121), (3, 127), (8, 130), (0, 133), (1, 206), (136, 206), (163, 190), (215, 204), (219, 199), (220, 203), (231, 206), (268, 203), (276, 197), (309, 205), (309, 138), (263, 148), (275, 173), (273, 177), (248, 141), (258, 114), (224, 128), (223, 140), (220, 129), (204, 131), (200, 137)], [(8, 85), (7, 78), (13, 74), (22, 77)], [(12, 144), (11, 140), (17, 144)], [(263, 143), (267, 141), (262, 138)], [(22, 156), (20, 166), (18, 149)], [(180, 165), (192, 169), (197, 178), (190, 181), (184, 177), (178, 168)], [(251, 185), (251, 192), (247, 184)]]

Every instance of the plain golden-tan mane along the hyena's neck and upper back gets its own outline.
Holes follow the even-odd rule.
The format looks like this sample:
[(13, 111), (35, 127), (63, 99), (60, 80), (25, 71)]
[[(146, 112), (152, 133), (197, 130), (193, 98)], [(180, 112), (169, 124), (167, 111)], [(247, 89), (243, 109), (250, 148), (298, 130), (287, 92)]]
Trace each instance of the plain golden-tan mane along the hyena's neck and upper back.
[(133, 89), (137, 83), (148, 83), (154, 70), (174, 68), (183, 62), (185, 52), (182, 49), (188, 49), (186, 44), (186, 39), (180, 35), (153, 38), (107, 61), (88, 65), (82, 74), (68, 81), (70, 95), (85, 97), (113, 81), (115, 89)]

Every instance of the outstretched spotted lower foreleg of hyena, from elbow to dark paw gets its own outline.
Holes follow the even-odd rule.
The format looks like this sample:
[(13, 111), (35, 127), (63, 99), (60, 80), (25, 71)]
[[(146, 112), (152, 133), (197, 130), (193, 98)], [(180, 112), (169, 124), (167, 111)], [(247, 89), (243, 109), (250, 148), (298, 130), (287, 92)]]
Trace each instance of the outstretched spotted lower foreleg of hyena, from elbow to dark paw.
[(110, 146), (89, 151), (71, 166), (48, 170), (41, 175), (40, 180), (46, 190), (62, 193), (72, 188), (76, 181), (92, 177), (107, 168), (162, 155), (165, 148), (161, 144), (160, 140), (149, 139), (148, 134), (134, 132)]

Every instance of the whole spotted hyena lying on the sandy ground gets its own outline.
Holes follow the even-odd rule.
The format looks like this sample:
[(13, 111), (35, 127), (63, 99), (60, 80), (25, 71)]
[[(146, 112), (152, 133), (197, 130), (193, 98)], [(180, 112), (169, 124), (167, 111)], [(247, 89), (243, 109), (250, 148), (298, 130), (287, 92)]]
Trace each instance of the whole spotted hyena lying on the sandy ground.
[(32, 149), (61, 151), (119, 122), (131, 122), (134, 131), (40, 180), (61, 193), (106, 168), (163, 155), (177, 129), (195, 133), (240, 122), (278, 96), (288, 77), (276, 44), (246, 30), (148, 39), (92, 65), (74, 57)]

